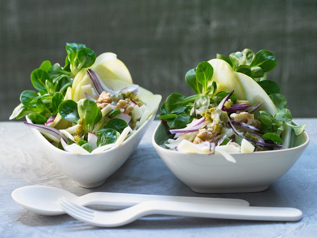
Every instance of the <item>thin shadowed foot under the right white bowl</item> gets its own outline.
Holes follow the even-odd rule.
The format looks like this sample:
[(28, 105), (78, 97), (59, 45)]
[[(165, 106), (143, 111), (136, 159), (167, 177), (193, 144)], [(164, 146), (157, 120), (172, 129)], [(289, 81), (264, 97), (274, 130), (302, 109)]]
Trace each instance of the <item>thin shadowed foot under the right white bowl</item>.
[(264, 191), (268, 188), (268, 186), (246, 187), (246, 188), (191, 188), (191, 189), (197, 193), (253, 193), (253, 192)]

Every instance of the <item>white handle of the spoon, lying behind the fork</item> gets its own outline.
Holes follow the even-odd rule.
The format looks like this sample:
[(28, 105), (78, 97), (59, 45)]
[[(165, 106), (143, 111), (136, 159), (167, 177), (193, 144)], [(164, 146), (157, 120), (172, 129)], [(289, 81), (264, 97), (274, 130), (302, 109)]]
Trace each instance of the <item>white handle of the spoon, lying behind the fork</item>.
[(163, 196), (147, 194), (129, 194), (129, 193), (108, 193), (94, 192), (83, 195), (76, 199), (78, 205), (112, 205), (112, 206), (134, 206), (146, 201), (171, 201), (186, 203), (201, 203), (214, 205), (234, 205), (249, 206), (250, 204), (242, 199), (233, 198), (210, 198), (210, 197), (185, 197), (185, 196)]

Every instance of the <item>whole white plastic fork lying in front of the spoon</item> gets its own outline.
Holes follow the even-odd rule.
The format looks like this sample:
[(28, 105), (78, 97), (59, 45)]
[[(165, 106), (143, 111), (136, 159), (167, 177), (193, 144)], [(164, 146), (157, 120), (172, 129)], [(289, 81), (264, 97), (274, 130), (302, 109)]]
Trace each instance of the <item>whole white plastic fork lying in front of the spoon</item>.
[(302, 217), (299, 209), (278, 207), (147, 201), (122, 210), (97, 211), (72, 203), (64, 197), (59, 199), (59, 203), (68, 215), (98, 227), (123, 226), (152, 214), (258, 221), (298, 221)]

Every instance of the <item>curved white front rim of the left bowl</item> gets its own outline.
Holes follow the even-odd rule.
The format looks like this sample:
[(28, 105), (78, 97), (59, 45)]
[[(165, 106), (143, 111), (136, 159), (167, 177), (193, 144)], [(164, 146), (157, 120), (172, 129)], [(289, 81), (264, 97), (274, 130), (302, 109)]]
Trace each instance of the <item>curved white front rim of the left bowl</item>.
[[(65, 153), (65, 155), (74, 155), (74, 156), (81, 156), (81, 157), (93, 157), (93, 156), (97, 157), (97, 156), (100, 156), (101, 154), (104, 155), (105, 153), (107, 153), (107, 152), (109, 152), (109, 151), (114, 151), (114, 150), (120, 148), (122, 145), (126, 145), (126, 144), (128, 143), (128, 141), (131, 140), (130, 138), (134, 138), (134, 137), (135, 137), (134, 135), (136, 135), (136, 133), (137, 133), (138, 131), (139, 131), (139, 132), (142, 131), (142, 129), (152, 120), (152, 118), (153, 118), (153, 116), (155, 115), (155, 113), (156, 113), (156, 111), (154, 111), (154, 113), (153, 113), (148, 119), (146, 119), (146, 121), (143, 123), (143, 125), (141, 125), (141, 126), (136, 130), (136, 132), (133, 133), (132, 136), (130, 136), (129, 138), (127, 138), (125, 141), (123, 141), (121, 145), (119, 145), (119, 146), (117, 146), (117, 147), (114, 147), (114, 148), (111, 148), (111, 149), (109, 149), (109, 150), (103, 151), (103, 152), (101, 152), (101, 153), (97, 153), (97, 154), (89, 154), (89, 155), (87, 155), (87, 154), (75, 154), (75, 153), (69, 153), (69, 152), (67, 152), (67, 151), (63, 151), (63, 150), (61, 150), (61, 149), (58, 149), (56, 146), (52, 145), (52, 144), (42, 135), (42, 133), (41, 133), (39, 130), (37, 130), (37, 129), (35, 129), (35, 128), (30, 128), (30, 129), (31, 129), (33, 132), (35, 132), (37, 135), (39, 135), (39, 136), (41, 137), (41, 139), (43, 139), (43, 140), (45, 141), (44, 143), (45, 143), (46, 145), (52, 146), (52, 149), (55, 150), (55, 151), (58, 152), (58, 153)], [(27, 116), (25, 116), (25, 118), (26, 118), (26, 120), (28, 120)]]

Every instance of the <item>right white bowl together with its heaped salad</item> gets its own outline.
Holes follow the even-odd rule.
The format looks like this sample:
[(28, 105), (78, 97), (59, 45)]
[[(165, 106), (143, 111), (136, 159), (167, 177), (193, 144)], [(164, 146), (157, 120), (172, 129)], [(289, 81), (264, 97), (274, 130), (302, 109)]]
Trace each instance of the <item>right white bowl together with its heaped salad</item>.
[[(152, 142), (170, 170), (193, 190), (264, 190), (306, 148), (307, 124), (292, 121), (279, 85), (267, 75), (275, 66), (267, 50), (254, 54), (244, 49), (229, 58), (217, 54), (186, 73), (194, 95), (166, 98)], [(281, 158), (285, 164), (278, 164)]]

